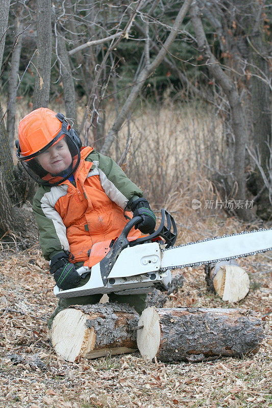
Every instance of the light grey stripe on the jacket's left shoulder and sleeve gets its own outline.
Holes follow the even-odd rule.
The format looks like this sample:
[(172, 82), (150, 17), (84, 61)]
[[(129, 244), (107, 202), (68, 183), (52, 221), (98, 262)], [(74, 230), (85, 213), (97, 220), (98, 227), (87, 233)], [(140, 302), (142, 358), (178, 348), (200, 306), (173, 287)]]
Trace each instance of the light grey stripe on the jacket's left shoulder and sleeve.
[(67, 193), (68, 186), (55, 186), (51, 188), (51, 191), (45, 193), (41, 198), (41, 209), (46, 218), (50, 218), (53, 221), (56, 234), (60, 240), (61, 246), (65, 251), (70, 249), (68, 240), (66, 238), (66, 227), (62, 221), (60, 214), (55, 210), (55, 204), (60, 197), (63, 197)]

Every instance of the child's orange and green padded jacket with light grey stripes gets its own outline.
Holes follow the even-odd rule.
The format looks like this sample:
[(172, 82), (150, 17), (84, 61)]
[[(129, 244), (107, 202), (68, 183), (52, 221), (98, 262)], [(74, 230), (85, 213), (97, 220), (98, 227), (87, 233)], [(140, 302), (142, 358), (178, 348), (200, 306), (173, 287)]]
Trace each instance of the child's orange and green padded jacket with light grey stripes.
[[(72, 183), (39, 186), (33, 199), (39, 243), (48, 261), (65, 250), (75, 257), (73, 263), (85, 262), (93, 244), (120, 235), (128, 222), (123, 215), (128, 201), (143, 195), (112, 159), (92, 147), (81, 150), (74, 176)], [(133, 228), (129, 236), (141, 233)]]

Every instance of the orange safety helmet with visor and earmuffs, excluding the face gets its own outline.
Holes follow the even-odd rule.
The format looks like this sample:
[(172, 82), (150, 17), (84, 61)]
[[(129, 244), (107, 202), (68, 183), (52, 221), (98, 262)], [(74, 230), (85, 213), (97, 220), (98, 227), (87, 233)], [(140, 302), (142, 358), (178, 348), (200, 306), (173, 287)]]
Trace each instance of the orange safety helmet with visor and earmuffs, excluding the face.
[[(35, 109), (20, 120), (18, 132), (16, 157), (37, 183), (56, 186), (75, 173), (80, 163), (82, 143), (62, 113), (47, 108)], [(62, 144), (69, 149), (71, 163), (67, 169), (53, 174), (41, 166), (39, 156), (62, 139), (65, 141)]]

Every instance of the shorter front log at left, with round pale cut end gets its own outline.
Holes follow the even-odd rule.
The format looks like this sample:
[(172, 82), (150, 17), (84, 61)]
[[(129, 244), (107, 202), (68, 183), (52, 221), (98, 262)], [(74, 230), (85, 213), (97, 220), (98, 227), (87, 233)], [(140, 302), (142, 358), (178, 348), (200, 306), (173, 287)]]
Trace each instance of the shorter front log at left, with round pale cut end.
[(139, 315), (128, 304), (71, 306), (57, 314), (51, 342), (58, 355), (74, 362), (137, 350)]

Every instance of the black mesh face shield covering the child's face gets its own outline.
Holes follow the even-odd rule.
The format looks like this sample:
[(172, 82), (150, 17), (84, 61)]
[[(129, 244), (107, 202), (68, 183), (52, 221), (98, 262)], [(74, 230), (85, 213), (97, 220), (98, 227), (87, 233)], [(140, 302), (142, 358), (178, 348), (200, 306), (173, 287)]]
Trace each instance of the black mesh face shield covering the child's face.
[(42, 186), (58, 186), (69, 179), (79, 166), (79, 136), (76, 134), (75, 138), (76, 132), (67, 129), (67, 126), (67, 121), (63, 120), (60, 132), (50, 143), (32, 155), (22, 156), (19, 143), (16, 145), (17, 159), (32, 179)]

